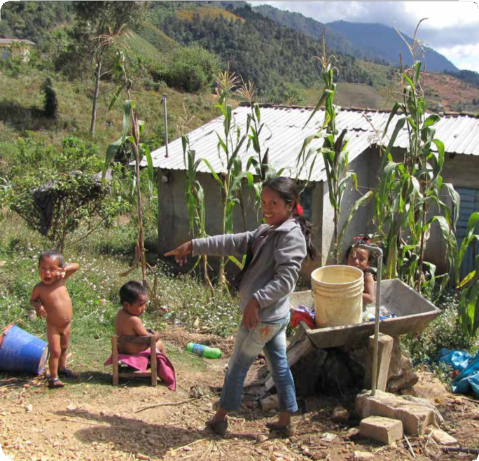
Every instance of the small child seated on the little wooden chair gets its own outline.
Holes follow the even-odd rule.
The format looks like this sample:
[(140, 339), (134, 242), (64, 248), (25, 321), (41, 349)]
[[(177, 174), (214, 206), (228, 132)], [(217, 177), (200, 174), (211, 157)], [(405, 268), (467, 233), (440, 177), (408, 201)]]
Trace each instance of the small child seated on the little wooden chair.
[[(139, 316), (146, 310), (148, 291), (139, 282), (130, 280), (120, 288), (120, 303), (123, 306), (116, 315), (115, 332), (117, 336), (155, 336), (156, 348), (165, 355), (165, 346), (158, 333), (150, 333)], [(148, 349), (150, 345), (137, 343), (120, 343), (118, 352), (135, 355)]]

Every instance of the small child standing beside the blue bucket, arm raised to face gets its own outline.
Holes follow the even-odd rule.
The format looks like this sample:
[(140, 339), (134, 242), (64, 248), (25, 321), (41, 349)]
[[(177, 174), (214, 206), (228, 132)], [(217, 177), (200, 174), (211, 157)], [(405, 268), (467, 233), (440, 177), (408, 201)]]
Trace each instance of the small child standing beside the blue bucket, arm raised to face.
[(58, 375), (76, 378), (76, 373), (67, 369), (67, 348), (73, 312), (66, 280), (79, 267), (77, 263), (65, 266), (63, 255), (56, 251), (44, 252), (39, 257), (41, 282), (36, 284), (32, 291), (30, 305), (35, 309), (37, 317), (46, 318), (50, 348), (48, 387), (52, 389), (64, 386)]

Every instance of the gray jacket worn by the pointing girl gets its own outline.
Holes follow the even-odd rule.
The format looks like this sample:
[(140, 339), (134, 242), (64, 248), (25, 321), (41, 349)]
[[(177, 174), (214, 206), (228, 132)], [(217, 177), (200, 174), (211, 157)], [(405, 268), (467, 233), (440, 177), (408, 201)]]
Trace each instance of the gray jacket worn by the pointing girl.
[[(254, 232), (215, 235), (193, 240), (193, 254), (236, 256), (247, 253), (248, 245), (266, 224)], [(254, 296), (262, 322), (275, 322), (289, 313), (289, 295), (294, 291), (301, 263), (306, 257), (306, 240), (300, 225), (289, 219), (261, 241), (240, 284), (240, 309)]]

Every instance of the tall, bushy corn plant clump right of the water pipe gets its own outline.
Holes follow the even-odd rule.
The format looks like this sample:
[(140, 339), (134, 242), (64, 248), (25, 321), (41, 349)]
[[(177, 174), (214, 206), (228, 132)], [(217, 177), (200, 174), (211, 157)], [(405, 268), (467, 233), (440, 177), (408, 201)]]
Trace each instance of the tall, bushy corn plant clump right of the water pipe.
[[(454, 267), (457, 254), (454, 231), (459, 217), (459, 194), (454, 191), (452, 184), (444, 183), (440, 175), (445, 147), (443, 142), (436, 139), (436, 130), (433, 128), (440, 116), (426, 113), (426, 99), (421, 85), (422, 62), (417, 59), (419, 41), (416, 33), (413, 45), (408, 45), (413, 57), (412, 67), (401, 75), (403, 100), (394, 104), (382, 136), (384, 139), (389, 123), (396, 114), (401, 113), (402, 117), (394, 127), (389, 144), (382, 146), (382, 174), (375, 190), (374, 219), (386, 249), (385, 276), (399, 276), (420, 293), (423, 289), (432, 291), (438, 280), (436, 267), (424, 261), (426, 240), (435, 222), (440, 226), (446, 242), (449, 266), (451, 269)], [(408, 130), (408, 147), (403, 161), (395, 163), (391, 149), (403, 127)], [(440, 200), (443, 191), (452, 200), (453, 214)], [(435, 209), (438, 214), (431, 216)], [(449, 275), (441, 277), (441, 287), (445, 287)]]

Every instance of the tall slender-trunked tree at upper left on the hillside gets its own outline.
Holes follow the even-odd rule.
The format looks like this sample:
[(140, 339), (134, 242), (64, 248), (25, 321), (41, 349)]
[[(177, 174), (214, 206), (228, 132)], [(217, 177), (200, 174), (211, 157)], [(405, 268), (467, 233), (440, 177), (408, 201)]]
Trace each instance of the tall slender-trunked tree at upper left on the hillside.
[(106, 34), (125, 33), (141, 22), (146, 11), (144, 1), (74, 1), (76, 12), (75, 34), (80, 41), (78, 51), (91, 57), (95, 68), (95, 90), (93, 92), (92, 121), (90, 133), (95, 135), (99, 84), (102, 76), (109, 74), (111, 69), (104, 71), (104, 58), (109, 50), (102, 36)]

